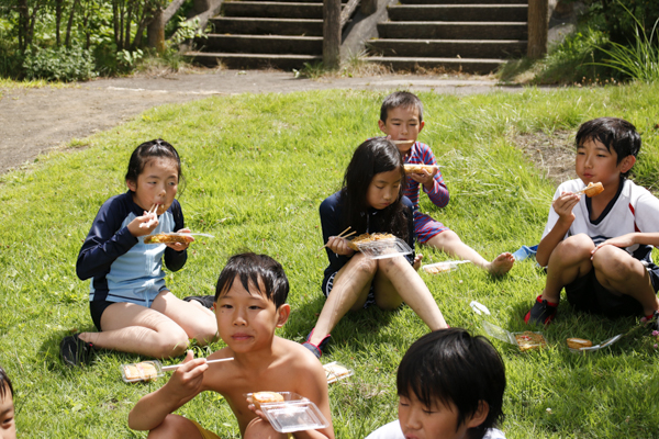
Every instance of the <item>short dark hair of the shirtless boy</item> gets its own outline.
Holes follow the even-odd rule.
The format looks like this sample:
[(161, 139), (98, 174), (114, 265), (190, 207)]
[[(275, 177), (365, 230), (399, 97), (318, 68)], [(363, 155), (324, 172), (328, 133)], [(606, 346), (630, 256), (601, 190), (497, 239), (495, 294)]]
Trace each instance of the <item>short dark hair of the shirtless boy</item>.
[[(289, 292), (288, 279), (281, 263), (269, 256), (246, 252), (228, 258), (220, 273), (220, 279), (217, 279), (215, 301), (231, 290), (236, 278), (241, 279), (241, 283), (247, 292), (249, 292), (249, 286), (256, 289), (273, 302), (275, 306), (279, 307), (286, 303)], [(260, 290), (259, 281), (263, 282), (265, 292)], [(249, 292), (249, 294), (252, 293)]]

